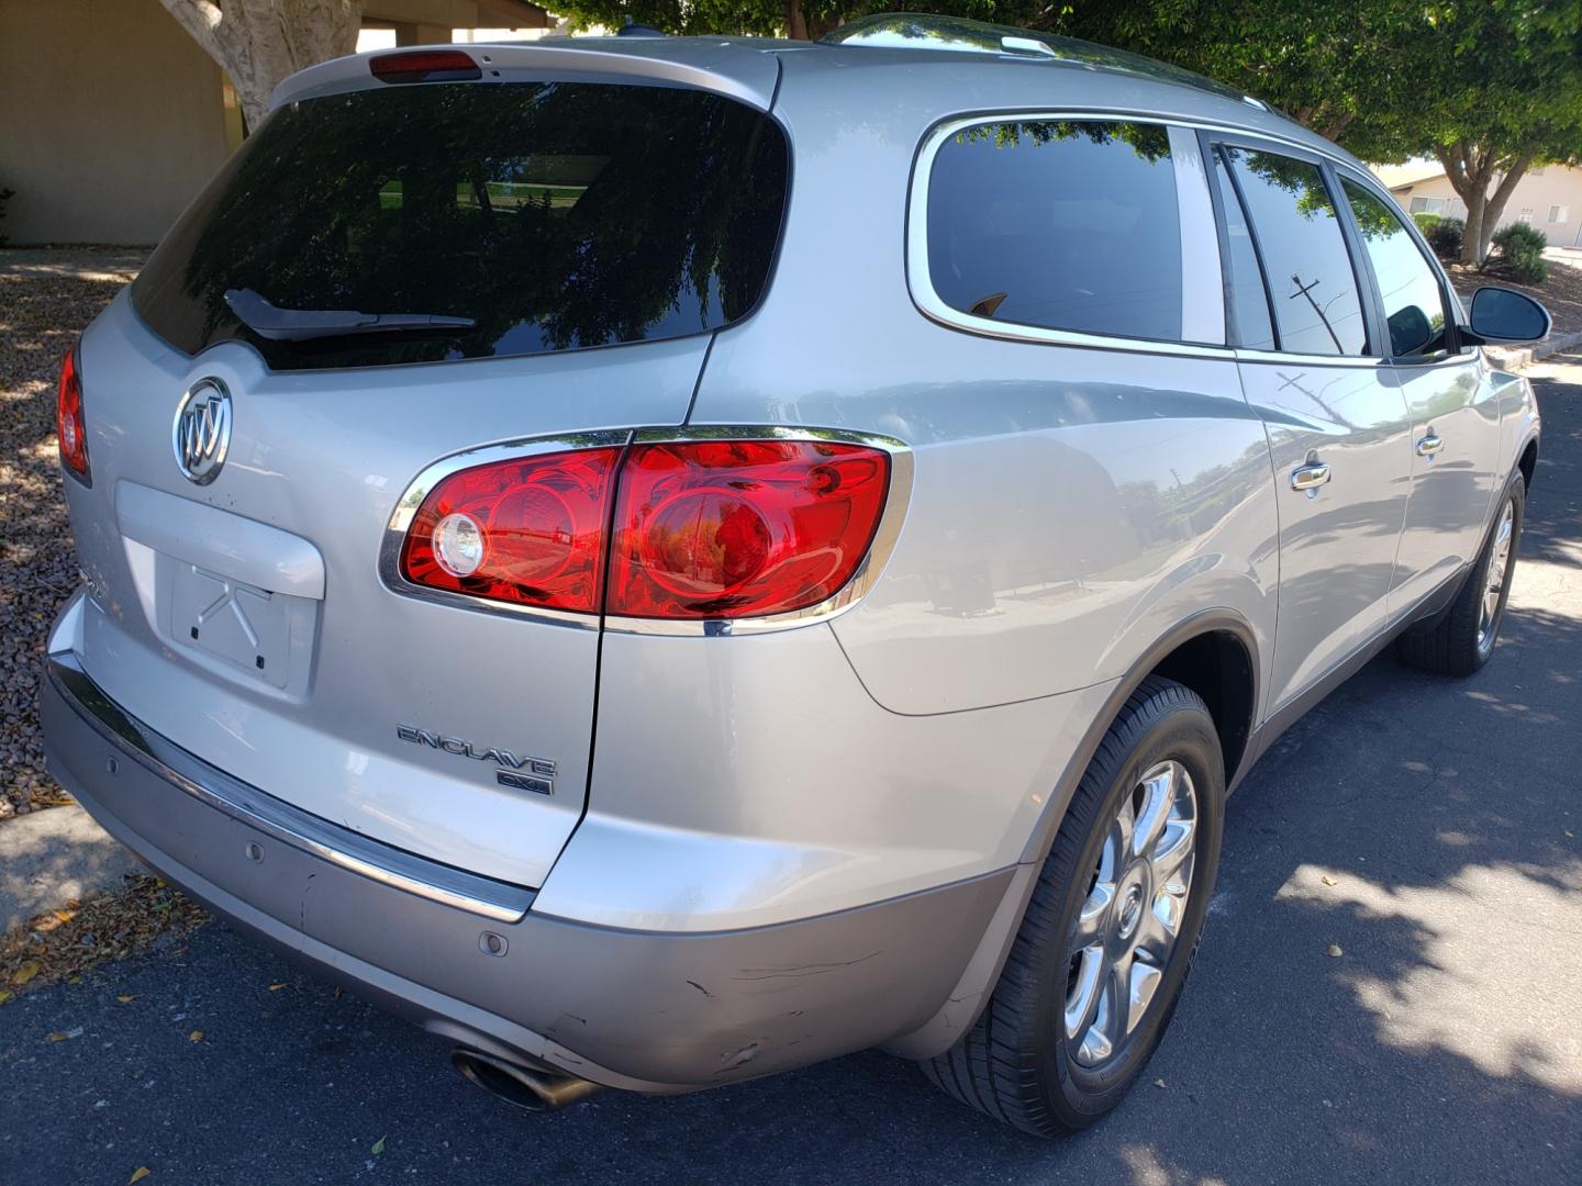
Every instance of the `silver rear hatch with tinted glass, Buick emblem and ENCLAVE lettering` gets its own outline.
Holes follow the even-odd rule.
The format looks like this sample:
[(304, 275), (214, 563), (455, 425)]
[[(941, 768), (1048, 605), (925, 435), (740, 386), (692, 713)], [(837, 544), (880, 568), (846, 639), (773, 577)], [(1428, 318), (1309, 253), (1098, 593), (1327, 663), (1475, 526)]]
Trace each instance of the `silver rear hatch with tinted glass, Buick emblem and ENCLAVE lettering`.
[[(92, 485), (66, 481), (109, 696), (261, 791), (525, 886), (582, 811), (598, 618), (411, 596), (386, 528), (449, 454), (682, 422), (786, 188), (761, 111), (581, 77), (278, 109), (85, 334)], [(229, 395), (229, 443), (184, 473), (195, 389)]]

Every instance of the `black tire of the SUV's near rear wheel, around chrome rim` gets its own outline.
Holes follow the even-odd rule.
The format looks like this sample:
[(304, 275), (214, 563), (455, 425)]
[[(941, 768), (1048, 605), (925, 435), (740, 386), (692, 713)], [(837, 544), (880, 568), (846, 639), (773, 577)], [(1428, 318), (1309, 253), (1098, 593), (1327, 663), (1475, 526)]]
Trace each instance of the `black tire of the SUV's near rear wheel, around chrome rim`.
[[(1136, 1028), (1106, 1063), (1085, 1067), (1063, 1022), (1077, 966), (1071, 954), (1077, 912), (1123, 799), (1164, 761), (1185, 767), (1196, 795), (1194, 865), (1180, 930)], [(922, 1063), (924, 1074), (963, 1104), (1038, 1135), (1084, 1129), (1114, 1109), (1158, 1047), (1186, 982), (1213, 893), (1223, 803), (1224, 762), (1207, 705), (1179, 683), (1144, 680), (1077, 784), (989, 1004), (960, 1042)]]

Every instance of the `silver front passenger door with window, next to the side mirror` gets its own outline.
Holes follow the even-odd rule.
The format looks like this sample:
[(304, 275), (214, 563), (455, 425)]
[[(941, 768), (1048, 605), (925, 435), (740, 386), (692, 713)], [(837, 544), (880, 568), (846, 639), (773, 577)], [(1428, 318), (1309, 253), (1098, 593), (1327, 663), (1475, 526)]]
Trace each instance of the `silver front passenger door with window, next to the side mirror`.
[(1397, 553), (1391, 620), (1471, 563), (1500, 457), (1500, 405), (1478, 349), (1459, 349), (1452, 299), (1400, 207), (1342, 176), (1378, 293), (1391, 367), (1411, 414), (1411, 501)]

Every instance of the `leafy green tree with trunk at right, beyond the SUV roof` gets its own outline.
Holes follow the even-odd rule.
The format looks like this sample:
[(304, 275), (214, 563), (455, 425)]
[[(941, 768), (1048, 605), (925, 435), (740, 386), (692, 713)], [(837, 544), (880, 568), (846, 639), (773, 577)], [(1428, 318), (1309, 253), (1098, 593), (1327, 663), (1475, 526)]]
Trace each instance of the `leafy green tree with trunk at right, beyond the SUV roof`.
[(1582, 155), (1582, 0), (1068, 0), (1035, 24), (1229, 82), (1365, 160), (1438, 158), (1468, 264), (1530, 164)]

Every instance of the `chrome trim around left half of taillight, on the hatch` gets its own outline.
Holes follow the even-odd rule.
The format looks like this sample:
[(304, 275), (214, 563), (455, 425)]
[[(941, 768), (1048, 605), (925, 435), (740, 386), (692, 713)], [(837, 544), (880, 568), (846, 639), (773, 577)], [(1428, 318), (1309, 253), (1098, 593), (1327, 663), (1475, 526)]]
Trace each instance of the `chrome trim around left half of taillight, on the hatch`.
[(625, 448), (631, 441), (630, 429), (596, 430), (584, 433), (562, 433), (554, 436), (528, 436), (516, 441), (500, 441), (497, 444), (481, 444), (475, 449), (464, 449), (441, 457), (424, 466), (422, 473), (408, 482), (402, 497), (396, 501), (389, 520), (384, 523), (384, 538), (380, 541), (380, 580), (392, 593), (418, 601), (432, 601), (440, 606), (470, 609), (483, 614), (497, 614), (508, 618), (527, 618), (552, 626), (571, 626), (574, 629), (598, 629), (596, 614), (571, 614), (560, 609), (543, 609), (539, 606), (517, 606), (509, 601), (490, 601), (475, 598), (470, 593), (452, 593), (446, 588), (429, 588), (407, 580), (400, 571), (400, 549), (407, 539), (407, 528), (411, 527), (418, 508), (429, 492), (452, 473), (471, 470), (478, 465), (508, 462), (520, 457), (536, 457), (546, 452), (566, 452), (571, 449)]

